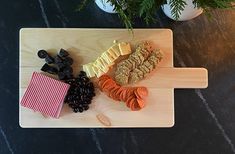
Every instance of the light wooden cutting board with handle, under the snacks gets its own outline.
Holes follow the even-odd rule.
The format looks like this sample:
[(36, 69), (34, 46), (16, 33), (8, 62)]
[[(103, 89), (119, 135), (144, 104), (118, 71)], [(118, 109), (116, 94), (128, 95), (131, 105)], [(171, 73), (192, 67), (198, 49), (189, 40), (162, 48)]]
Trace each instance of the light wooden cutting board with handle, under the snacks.
[(20, 126), (107, 127), (96, 118), (97, 114), (103, 114), (109, 118), (110, 127), (172, 127), (174, 88), (206, 88), (208, 85), (206, 69), (173, 67), (173, 37), (169, 29), (135, 29), (132, 36), (126, 29), (24, 28), (20, 30), (20, 99), (32, 72), (40, 72), (45, 63), (37, 57), (39, 49), (46, 49), (54, 54), (60, 48), (67, 49), (74, 58), (74, 74), (77, 74), (82, 64), (95, 60), (113, 44), (113, 40), (132, 44), (151, 40), (163, 51), (163, 61), (145, 80), (136, 84), (146, 86), (149, 90), (144, 109), (130, 111), (124, 103), (113, 101), (97, 89), (97, 96), (88, 111), (75, 114), (64, 105), (59, 119), (44, 117), (19, 106)]

